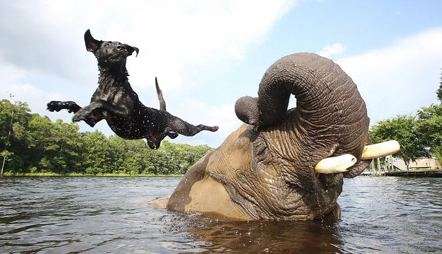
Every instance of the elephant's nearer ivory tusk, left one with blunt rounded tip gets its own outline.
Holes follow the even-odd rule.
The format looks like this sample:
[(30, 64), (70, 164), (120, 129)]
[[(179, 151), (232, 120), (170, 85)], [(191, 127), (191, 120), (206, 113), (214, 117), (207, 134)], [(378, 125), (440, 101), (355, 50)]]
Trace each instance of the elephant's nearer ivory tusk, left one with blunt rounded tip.
[(322, 159), (316, 164), (315, 172), (323, 174), (334, 174), (348, 171), (348, 168), (355, 165), (356, 157), (353, 155), (341, 155)]

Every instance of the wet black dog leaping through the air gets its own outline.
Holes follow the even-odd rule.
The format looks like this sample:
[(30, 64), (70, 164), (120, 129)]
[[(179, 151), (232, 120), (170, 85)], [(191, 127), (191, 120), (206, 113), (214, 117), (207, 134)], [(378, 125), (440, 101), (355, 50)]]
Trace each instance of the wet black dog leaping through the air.
[(178, 134), (194, 136), (201, 131), (216, 132), (218, 126), (192, 125), (166, 111), (166, 103), (155, 78), (160, 110), (144, 106), (129, 84), (126, 58), (138, 48), (117, 41), (98, 41), (90, 31), (84, 34), (86, 49), (94, 53), (98, 61), (100, 77), (98, 88), (86, 107), (74, 101), (51, 101), (49, 111), (68, 110), (74, 112), (73, 121), (85, 121), (91, 127), (106, 119), (110, 129), (124, 139), (146, 138), (150, 148), (157, 149), (166, 136), (176, 138)]

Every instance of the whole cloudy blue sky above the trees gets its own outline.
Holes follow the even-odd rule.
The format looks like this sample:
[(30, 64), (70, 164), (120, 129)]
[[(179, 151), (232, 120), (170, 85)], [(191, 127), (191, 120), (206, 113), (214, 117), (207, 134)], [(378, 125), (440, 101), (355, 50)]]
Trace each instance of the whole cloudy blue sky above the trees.
[[(375, 124), (437, 102), (441, 13), (440, 0), (0, 1), (0, 99), (12, 93), (33, 113), (70, 122), (46, 104), (89, 104), (98, 81), (83, 39), (90, 29), (139, 48), (127, 69), (146, 106), (159, 108), (157, 77), (171, 114), (220, 128), (172, 142), (219, 146), (242, 123), (235, 101), (257, 96), (266, 69), (297, 52), (339, 64)], [(79, 125), (113, 134), (104, 120)]]

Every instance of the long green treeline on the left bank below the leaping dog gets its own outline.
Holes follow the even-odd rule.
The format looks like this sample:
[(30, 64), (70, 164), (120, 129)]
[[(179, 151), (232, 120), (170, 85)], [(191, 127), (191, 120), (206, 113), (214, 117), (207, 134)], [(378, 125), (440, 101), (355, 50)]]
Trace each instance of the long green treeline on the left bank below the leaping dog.
[(0, 158), (8, 174), (183, 174), (213, 150), (167, 140), (152, 150), (144, 140), (80, 133), (74, 123), (30, 112), (26, 103), (0, 101)]

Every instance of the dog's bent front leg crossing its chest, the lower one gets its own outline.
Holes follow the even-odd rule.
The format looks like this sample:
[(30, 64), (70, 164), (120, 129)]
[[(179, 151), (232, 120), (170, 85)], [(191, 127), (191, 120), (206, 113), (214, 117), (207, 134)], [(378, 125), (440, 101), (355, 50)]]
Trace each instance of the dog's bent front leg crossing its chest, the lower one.
[(128, 118), (131, 113), (131, 110), (126, 107), (115, 107), (112, 104), (108, 103), (106, 100), (98, 99), (92, 101), (89, 105), (77, 111), (74, 117), (72, 117), (72, 121), (78, 122), (81, 120), (85, 120), (96, 109), (105, 109), (114, 116), (119, 116), (121, 118)]

